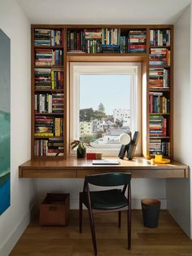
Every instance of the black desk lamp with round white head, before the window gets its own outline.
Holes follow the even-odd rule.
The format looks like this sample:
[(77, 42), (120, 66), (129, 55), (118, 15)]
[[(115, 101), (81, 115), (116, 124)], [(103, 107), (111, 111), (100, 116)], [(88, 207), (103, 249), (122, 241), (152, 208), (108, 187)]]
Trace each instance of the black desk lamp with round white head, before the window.
[(120, 157), (121, 159), (124, 159), (124, 154), (125, 154), (125, 152), (127, 152), (128, 159), (132, 160), (133, 153), (137, 146), (138, 137), (139, 137), (138, 131), (135, 131), (135, 133), (133, 135), (133, 139), (131, 138), (131, 132), (129, 132), (128, 134), (120, 135), (119, 142), (122, 146), (120, 148), (118, 157)]

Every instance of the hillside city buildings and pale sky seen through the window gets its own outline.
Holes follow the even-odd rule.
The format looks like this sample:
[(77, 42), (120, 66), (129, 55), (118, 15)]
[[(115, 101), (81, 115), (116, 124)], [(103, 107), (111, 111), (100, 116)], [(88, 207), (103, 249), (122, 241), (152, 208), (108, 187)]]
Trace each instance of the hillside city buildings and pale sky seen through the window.
[(80, 139), (94, 148), (119, 148), (119, 136), (128, 132), (130, 75), (80, 76)]

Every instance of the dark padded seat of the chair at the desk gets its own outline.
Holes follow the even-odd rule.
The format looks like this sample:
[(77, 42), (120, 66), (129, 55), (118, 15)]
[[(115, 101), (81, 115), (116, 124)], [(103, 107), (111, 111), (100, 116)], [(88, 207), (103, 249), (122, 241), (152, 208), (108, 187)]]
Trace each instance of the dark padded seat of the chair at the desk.
[[(116, 210), (128, 205), (128, 200), (120, 189), (90, 192), (91, 207), (95, 210)], [(86, 205), (86, 194), (82, 192), (82, 199)]]

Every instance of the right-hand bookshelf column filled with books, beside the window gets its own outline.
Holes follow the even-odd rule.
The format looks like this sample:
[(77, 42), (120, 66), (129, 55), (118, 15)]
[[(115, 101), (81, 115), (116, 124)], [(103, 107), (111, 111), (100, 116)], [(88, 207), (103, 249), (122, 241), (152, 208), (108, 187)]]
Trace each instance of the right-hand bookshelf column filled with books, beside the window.
[(149, 157), (172, 158), (172, 26), (149, 29)]

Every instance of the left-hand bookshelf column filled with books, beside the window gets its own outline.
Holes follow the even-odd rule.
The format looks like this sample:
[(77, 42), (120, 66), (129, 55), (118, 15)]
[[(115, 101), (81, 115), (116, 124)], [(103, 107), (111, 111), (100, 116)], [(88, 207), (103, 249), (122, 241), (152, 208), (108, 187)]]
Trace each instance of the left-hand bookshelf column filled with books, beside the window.
[(64, 157), (64, 28), (32, 26), (32, 157)]

